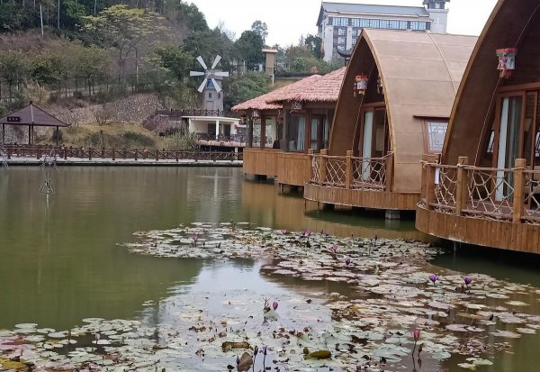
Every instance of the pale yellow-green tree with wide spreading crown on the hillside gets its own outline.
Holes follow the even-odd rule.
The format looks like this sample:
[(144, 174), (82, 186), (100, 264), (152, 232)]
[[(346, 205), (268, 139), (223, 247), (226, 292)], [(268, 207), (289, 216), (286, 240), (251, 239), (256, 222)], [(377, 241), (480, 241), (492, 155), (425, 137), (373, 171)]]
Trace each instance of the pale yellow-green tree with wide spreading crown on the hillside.
[(85, 30), (92, 32), (97, 41), (117, 50), (117, 62), (121, 77), (125, 75), (126, 61), (139, 45), (153, 43), (158, 35), (168, 31), (164, 18), (144, 9), (130, 9), (126, 5), (113, 5), (97, 16), (85, 17)]

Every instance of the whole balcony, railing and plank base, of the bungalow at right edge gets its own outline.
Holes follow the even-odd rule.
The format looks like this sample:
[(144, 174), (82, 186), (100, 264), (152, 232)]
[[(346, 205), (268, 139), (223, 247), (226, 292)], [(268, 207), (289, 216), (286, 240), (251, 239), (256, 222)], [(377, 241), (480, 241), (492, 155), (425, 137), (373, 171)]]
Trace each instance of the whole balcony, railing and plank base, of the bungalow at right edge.
[(439, 238), (539, 253), (540, 170), (424, 163), (417, 228)]

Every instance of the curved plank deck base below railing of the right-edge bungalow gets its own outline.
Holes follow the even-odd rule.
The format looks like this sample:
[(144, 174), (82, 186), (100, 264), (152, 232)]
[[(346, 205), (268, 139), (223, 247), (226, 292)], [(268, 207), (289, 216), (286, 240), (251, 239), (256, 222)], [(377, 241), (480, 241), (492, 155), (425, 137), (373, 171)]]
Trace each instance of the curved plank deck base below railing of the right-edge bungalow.
[(438, 213), (419, 205), (416, 227), (438, 238), (501, 250), (540, 253), (539, 225)]

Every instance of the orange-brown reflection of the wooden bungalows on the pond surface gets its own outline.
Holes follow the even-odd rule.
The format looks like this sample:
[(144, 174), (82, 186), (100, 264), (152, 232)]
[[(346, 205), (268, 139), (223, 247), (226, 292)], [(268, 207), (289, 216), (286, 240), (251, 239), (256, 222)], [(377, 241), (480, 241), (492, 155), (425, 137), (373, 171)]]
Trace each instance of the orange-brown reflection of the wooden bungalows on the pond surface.
[(279, 195), (277, 186), (273, 183), (244, 181), (242, 206), (247, 209), (251, 222), (275, 226), (275, 229), (330, 231), (338, 236), (354, 233), (365, 238), (372, 238), (376, 234), (388, 239), (432, 240), (426, 234), (415, 230), (414, 222), (401, 221), (399, 226), (387, 226), (383, 219), (318, 211), (317, 203), (306, 201), (300, 195)]

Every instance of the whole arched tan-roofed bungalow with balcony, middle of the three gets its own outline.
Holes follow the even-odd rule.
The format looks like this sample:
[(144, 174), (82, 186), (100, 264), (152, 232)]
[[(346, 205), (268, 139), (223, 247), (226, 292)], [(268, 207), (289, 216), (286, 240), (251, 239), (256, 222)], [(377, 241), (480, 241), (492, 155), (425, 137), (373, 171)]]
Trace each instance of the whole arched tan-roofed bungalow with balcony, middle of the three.
[(325, 204), (415, 210), (420, 159), (440, 153), (477, 38), (365, 29), (348, 64), (329, 149), (312, 155), (304, 197)]

